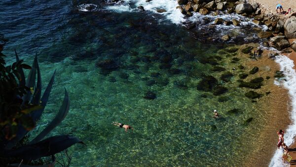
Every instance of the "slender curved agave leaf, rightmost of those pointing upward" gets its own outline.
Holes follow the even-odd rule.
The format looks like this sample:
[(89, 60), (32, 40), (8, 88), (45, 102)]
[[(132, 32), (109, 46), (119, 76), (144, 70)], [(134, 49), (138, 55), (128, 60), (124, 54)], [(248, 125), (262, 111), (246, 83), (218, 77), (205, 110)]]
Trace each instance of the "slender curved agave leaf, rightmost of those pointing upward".
[(70, 99), (69, 99), (69, 96), (68, 96), (68, 92), (65, 89), (65, 97), (64, 97), (64, 100), (63, 100), (63, 104), (60, 107), (59, 113), (47, 125), (47, 127), (30, 142), (30, 144), (33, 144), (33, 143), (36, 143), (36, 142), (40, 141), (51, 130), (53, 130), (56, 126), (58, 126), (64, 120), (64, 118), (66, 117), (66, 115), (68, 114), (69, 107), (70, 107)]

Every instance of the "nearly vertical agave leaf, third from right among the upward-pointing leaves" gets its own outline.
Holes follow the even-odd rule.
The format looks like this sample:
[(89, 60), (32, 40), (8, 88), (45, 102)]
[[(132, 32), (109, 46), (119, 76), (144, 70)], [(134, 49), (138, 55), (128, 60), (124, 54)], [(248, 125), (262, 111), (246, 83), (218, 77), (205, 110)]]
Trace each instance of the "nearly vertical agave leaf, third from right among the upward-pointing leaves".
[[(30, 73), (28, 75), (28, 78), (27, 78), (26, 86), (28, 88), (34, 88), (35, 87), (37, 66), (38, 66), (38, 63), (37, 63), (37, 56), (36, 56), (35, 59), (34, 59), (34, 62), (33, 62), (32, 69), (31, 69), (31, 71), (30, 71)], [(27, 94), (23, 97), (23, 105), (26, 102), (30, 101), (31, 96), (32, 96), (32, 92), (28, 91)]]

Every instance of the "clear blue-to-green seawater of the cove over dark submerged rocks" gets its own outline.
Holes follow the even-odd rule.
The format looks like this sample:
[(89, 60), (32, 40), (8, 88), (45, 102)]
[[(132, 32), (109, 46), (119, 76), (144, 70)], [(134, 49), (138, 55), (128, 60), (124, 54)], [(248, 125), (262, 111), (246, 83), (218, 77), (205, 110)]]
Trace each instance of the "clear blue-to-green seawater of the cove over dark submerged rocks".
[[(231, 68), (239, 63), (230, 63), (235, 53), (219, 52), (228, 44), (208, 41), (208, 36), (196, 39), (198, 32), (169, 20), (159, 23), (163, 16), (149, 12), (85, 13), (75, 1), (1, 3), (5, 10), (0, 12), (10, 19), (1, 21), (1, 33), (10, 40), (5, 54), (13, 55), (16, 48), (32, 62), (37, 52), (43, 85), (57, 69), (32, 136), (54, 117), (64, 88), (69, 91), (69, 114), (50, 135), (74, 134), (85, 142), (70, 149), (72, 166), (231, 166), (252, 151), (241, 148), (241, 142), (252, 142), (252, 132), (262, 127), (256, 119), (263, 113), (237, 88), (240, 71)], [(206, 64), (211, 56), (219, 57)], [(112, 61), (109, 69), (98, 65), (106, 60)], [(212, 72), (215, 62), (234, 74), (230, 82), (219, 79), (224, 72)], [(214, 96), (198, 91), (205, 75), (215, 76), (228, 92)], [(144, 98), (148, 91), (155, 93), (154, 100)], [(233, 108), (239, 113), (227, 113)], [(214, 109), (222, 118), (212, 118)], [(250, 117), (255, 121), (245, 125)], [(125, 133), (112, 121), (135, 130)]]

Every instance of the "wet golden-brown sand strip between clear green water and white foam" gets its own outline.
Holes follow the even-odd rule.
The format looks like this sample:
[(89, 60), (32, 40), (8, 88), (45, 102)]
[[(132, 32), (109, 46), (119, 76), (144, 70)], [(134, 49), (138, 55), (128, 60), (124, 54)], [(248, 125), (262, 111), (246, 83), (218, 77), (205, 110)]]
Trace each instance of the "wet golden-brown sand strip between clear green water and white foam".
[[(248, 46), (257, 47), (257, 44), (248, 44)], [(253, 78), (263, 77), (264, 86), (255, 90), (261, 94), (270, 92), (269, 95), (263, 96), (257, 102), (256, 108), (259, 112), (263, 112), (266, 117), (263, 120), (256, 120), (264, 123), (263, 129), (258, 134), (258, 138), (252, 142), (242, 143), (244, 145), (251, 144), (254, 146), (253, 152), (249, 153), (248, 158), (245, 162), (242, 162), (243, 167), (266, 167), (269, 165), (270, 160), (277, 149), (276, 143), (278, 142), (278, 135), (276, 132), (279, 129), (285, 130), (290, 125), (291, 120), (289, 119), (289, 96), (288, 90), (282, 86), (274, 84), (275, 71), (279, 70), (279, 65), (272, 59), (268, 58), (268, 53), (271, 51), (264, 51), (261, 58), (258, 61), (249, 58), (249, 55), (242, 54), (240, 58), (245, 62), (244, 66), (249, 70), (253, 67), (259, 67), (259, 72), (256, 73)], [(266, 80), (266, 76), (270, 76), (270, 79)], [(250, 78), (250, 79), (253, 79)], [(259, 123), (258, 123), (259, 124)], [(254, 125), (258, 125), (255, 123)], [(254, 126), (256, 129), (256, 126)]]

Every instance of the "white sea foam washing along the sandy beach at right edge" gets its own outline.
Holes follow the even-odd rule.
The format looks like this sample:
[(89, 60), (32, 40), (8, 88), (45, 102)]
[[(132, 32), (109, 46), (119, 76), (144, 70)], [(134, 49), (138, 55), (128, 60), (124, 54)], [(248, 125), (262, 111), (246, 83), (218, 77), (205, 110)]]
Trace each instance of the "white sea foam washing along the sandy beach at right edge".
[[(288, 146), (291, 146), (294, 142), (294, 136), (296, 135), (296, 71), (293, 68), (294, 62), (293, 60), (289, 59), (286, 56), (277, 56), (277, 59), (275, 60), (276, 63), (278, 63), (281, 67), (281, 71), (284, 71), (284, 74), (286, 76), (285, 80), (282, 81), (282, 85), (288, 89), (289, 96), (291, 99), (291, 113), (290, 117), (292, 120), (292, 125), (288, 126), (284, 139), (285, 143)], [(274, 156), (271, 159), (271, 162), (269, 164), (269, 167), (285, 167), (290, 166), (289, 164), (284, 164), (282, 161), (282, 154), (283, 150), (276, 150)]]

